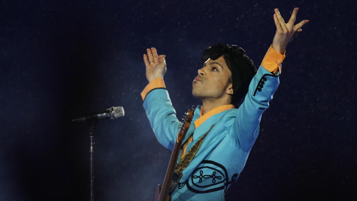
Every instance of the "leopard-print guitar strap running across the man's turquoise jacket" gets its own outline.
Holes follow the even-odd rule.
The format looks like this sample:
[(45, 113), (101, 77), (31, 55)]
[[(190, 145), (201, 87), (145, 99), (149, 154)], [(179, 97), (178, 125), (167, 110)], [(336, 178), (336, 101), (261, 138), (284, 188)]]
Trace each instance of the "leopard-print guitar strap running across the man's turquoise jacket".
[(188, 164), (190, 164), (190, 162), (192, 161), (193, 157), (195, 157), (195, 155), (196, 155), (198, 149), (200, 148), (203, 140), (205, 139), (207, 134), (211, 131), (213, 126), (215, 126), (215, 124), (213, 124), (211, 126), (211, 128), (205, 134), (203, 134), (203, 136), (201, 136), (201, 138), (191, 147), (190, 151), (188, 151), (186, 153), (186, 155), (182, 158), (182, 160), (177, 164), (177, 166), (175, 168), (174, 176), (172, 177), (172, 181), (170, 183), (169, 193), (174, 191), (178, 181), (180, 181), (180, 178), (182, 177), (182, 171), (188, 166)]

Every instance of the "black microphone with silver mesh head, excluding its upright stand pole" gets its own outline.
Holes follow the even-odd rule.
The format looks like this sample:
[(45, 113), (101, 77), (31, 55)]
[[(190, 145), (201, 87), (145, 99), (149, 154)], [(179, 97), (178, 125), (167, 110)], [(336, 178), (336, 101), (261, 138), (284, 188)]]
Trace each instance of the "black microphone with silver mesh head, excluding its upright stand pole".
[(84, 123), (92, 120), (100, 120), (100, 119), (116, 119), (124, 116), (124, 108), (119, 107), (111, 107), (106, 110), (101, 110), (97, 112), (92, 112), (86, 114), (84, 117), (72, 119), (73, 123)]

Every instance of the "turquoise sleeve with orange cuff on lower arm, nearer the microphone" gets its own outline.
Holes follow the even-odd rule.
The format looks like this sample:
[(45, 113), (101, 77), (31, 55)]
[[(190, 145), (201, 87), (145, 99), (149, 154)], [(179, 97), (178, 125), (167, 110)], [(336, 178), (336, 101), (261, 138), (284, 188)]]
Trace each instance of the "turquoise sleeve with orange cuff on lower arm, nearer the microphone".
[(141, 93), (143, 106), (151, 128), (162, 146), (172, 150), (175, 145), (180, 121), (172, 107), (164, 80), (152, 80)]

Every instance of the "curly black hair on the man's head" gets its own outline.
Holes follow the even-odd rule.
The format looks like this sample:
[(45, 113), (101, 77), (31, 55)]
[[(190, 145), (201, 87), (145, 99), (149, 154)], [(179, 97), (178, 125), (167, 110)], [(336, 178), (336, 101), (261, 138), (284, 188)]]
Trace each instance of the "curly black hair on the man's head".
[(233, 85), (231, 104), (238, 108), (241, 99), (248, 92), (249, 84), (257, 73), (257, 69), (246, 52), (237, 45), (228, 46), (224, 43), (212, 45), (205, 49), (201, 59), (206, 62), (209, 58), (216, 60), (222, 55), (232, 74), (229, 79), (229, 82)]

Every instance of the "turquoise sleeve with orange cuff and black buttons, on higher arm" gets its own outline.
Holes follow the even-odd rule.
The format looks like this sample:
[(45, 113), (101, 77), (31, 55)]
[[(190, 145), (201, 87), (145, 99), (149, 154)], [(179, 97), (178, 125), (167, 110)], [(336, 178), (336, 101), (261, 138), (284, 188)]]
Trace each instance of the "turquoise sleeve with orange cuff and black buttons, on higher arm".
[(242, 151), (250, 151), (258, 136), (262, 113), (269, 107), (269, 100), (273, 99), (279, 85), (281, 62), (284, 58), (285, 52), (282, 55), (270, 46), (238, 108), (228, 133)]

